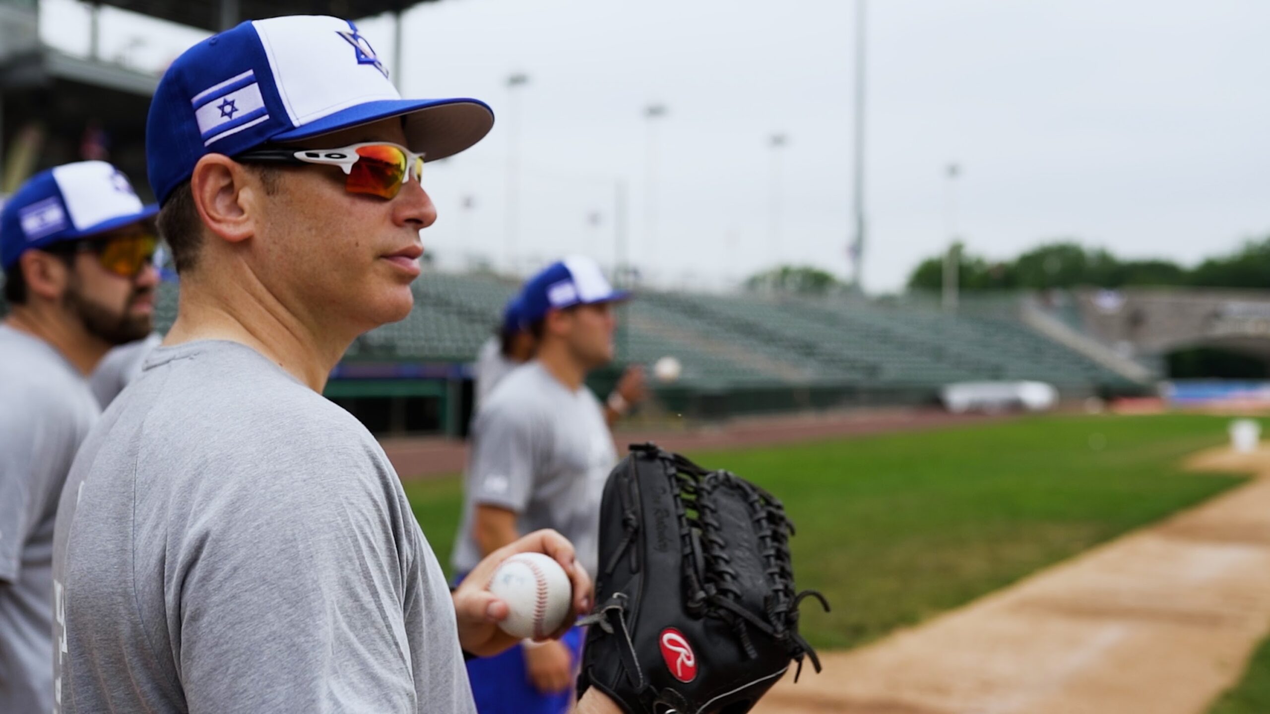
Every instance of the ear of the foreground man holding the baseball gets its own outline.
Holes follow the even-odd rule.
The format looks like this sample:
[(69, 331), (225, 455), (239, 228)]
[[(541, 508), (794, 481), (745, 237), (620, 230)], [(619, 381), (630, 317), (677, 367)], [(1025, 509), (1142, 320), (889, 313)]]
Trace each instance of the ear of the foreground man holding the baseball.
[(189, 193), (203, 225), (212, 234), (240, 243), (255, 234), (263, 208), (264, 187), (259, 177), (224, 154), (206, 154), (194, 164)]

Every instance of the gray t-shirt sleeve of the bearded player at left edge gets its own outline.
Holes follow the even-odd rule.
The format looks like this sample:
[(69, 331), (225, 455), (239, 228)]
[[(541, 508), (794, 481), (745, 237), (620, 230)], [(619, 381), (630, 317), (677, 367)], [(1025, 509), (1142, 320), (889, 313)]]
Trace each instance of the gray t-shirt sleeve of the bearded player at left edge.
[(0, 415), (0, 582), (18, 581), (22, 545), (30, 527), (32, 461), (34, 443), (28, 428)]

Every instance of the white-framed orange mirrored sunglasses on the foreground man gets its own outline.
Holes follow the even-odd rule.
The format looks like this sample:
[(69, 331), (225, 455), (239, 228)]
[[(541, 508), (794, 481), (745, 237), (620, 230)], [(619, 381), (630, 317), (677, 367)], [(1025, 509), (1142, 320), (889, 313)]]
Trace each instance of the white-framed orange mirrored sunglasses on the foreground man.
[(413, 175), (423, 183), (423, 154), (386, 142), (366, 142), (338, 149), (254, 149), (237, 161), (325, 164), (344, 172), (344, 191), (394, 198)]

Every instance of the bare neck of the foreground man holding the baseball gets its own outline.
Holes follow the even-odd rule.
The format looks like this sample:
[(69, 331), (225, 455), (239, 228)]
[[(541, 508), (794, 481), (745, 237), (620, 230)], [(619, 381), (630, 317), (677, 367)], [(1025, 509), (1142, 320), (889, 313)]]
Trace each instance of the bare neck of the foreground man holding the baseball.
[(239, 285), (183, 276), (177, 321), (164, 344), (237, 342), (320, 393), (356, 338), (335, 338), (329, 332), (306, 324), (259, 282)]

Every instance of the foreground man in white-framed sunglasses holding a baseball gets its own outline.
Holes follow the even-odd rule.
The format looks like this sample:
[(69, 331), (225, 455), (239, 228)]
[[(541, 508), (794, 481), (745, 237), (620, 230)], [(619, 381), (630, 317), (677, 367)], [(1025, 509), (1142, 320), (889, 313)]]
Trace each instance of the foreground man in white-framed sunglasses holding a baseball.
[(423, 156), (491, 125), (474, 99), (401, 99), (337, 18), (246, 22), (169, 66), (146, 155), (180, 304), (62, 492), (58, 711), (470, 713), (461, 648), (514, 643), (485, 589), (503, 558), (552, 555), (589, 610), (550, 531), (452, 593), (384, 450), (321, 396), (413, 306)]

